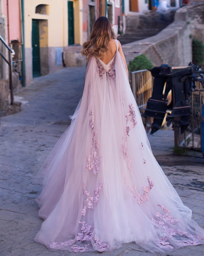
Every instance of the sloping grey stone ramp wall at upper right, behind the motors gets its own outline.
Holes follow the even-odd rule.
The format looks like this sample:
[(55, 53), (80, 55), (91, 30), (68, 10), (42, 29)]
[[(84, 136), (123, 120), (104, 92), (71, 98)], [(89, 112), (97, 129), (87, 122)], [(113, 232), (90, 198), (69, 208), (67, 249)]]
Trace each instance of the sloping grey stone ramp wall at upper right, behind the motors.
[(172, 22), (156, 36), (122, 46), (127, 63), (144, 53), (155, 65), (188, 65), (192, 61), (192, 40), (203, 40), (204, 3), (179, 8)]

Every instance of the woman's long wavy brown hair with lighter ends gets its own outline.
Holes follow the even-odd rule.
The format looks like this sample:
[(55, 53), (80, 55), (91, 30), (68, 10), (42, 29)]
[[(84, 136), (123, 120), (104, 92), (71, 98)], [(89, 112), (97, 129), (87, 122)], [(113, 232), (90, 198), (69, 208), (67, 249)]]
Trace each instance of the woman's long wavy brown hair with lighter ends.
[(82, 55), (88, 58), (93, 55), (97, 58), (103, 57), (111, 39), (115, 39), (111, 22), (101, 16), (95, 21), (89, 40), (83, 44)]

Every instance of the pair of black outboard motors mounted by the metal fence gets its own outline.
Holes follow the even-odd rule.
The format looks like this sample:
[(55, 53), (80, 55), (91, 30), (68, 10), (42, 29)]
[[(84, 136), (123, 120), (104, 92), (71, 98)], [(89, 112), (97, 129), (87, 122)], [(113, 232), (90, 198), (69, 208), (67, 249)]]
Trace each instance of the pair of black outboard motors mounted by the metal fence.
[[(181, 133), (186, 130), (190, 124), (191, 114), (189, 98), (192, 90), (196, 88), (195, 81), (203, 80), (198, 78), (201, 73), (204, 73), (204, 71), (198, 71), (199, 68), (200, 66), (193, 64), (187, 67), (169, 67), (163, 64), (149, 70), (154, 77), (153, 91), (142, 116), (154, 118), (150, 134), (161, 128), (167, 110), (171, 111), (171, 114), (167, 113), (167, 125), (173, 123), (173, 127), (181, 128)], [(170, 90), (172, 97), (168, 105), (167, 95)]]

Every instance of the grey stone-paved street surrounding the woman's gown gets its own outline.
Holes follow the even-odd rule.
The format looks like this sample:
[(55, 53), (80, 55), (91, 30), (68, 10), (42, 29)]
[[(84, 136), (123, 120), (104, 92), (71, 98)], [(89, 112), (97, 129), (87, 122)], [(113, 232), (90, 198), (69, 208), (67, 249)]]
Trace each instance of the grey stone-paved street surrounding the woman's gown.
[[(42, 220), (35, 198), (40, 186), (32, 184), (40, 165), (69, 126), (83, 93), (85, 67), (64, 68), (36, 78), (16, 93), (22, 111), (1, 119), (1, 256), (156, 256), (134, 243), (113, 252), (51, 252), (33, 241)], [(172, 131), (149, 136), (157, 161), (176, 188), (193, 219), (204, 228), (204, 161), (201, 157), (173, 156)], [(189, 246), (169, 256), (202, 256), (204, 246)]]

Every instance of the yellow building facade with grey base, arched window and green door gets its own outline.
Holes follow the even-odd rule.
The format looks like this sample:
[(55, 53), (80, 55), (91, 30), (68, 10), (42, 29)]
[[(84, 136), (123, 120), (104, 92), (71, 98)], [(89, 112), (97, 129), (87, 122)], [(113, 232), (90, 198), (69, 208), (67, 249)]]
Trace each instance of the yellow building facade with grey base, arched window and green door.
[(25, 0), (25, 79), (47, 75), (62, 67), (68, 45), (66, 0)]

